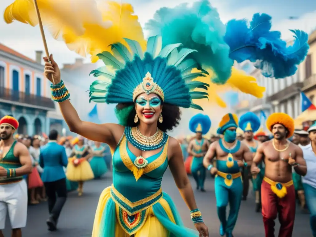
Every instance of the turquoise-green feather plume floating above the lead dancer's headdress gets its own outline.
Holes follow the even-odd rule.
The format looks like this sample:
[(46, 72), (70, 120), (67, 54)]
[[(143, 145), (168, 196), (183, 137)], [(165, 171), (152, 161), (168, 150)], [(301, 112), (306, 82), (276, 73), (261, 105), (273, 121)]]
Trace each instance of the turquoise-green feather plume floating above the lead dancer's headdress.
[(190, 55), (203, 67), (212, 68), (218, 84), (225, 84), (231, 75), (233, 60), (229, 46), (223, 40), (225, 25), (208, 0), (198, 1), (189, 7), (161, 8), (154, 19), (145, 24), (150, 35), (161, 35), (162, 46), (182, 43), (185, 48), (198, 51)]

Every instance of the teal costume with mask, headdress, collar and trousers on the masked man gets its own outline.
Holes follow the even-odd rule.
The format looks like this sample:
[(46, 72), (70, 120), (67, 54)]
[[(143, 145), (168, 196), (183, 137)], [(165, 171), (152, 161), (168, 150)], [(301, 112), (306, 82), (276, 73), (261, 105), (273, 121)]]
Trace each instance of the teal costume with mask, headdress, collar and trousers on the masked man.
[[(236, 131), (227, 130), (230, 127), (237, 128), (237, 116), (231, 113), (226, 114), (217, 130), (218, 134), (224, 135), (227, 143), (233, 143), (236, 140)], [(234, 161), (233, 154), (240, 149), (241, 142), (236, 141), (231, 149), (227, 149), (222, 139), (218, 141), (221, 149), (228, 153), (227, 161), (216, 160), (218, 170), (215, 177), (215, 196), (217, 215), (221, 222), (220, 235), (231, 237), (234, 230), (243, 191), (240, 167), (237, 161)], [(229, 204), (230, 210), (226, 218), (226, 207)]]

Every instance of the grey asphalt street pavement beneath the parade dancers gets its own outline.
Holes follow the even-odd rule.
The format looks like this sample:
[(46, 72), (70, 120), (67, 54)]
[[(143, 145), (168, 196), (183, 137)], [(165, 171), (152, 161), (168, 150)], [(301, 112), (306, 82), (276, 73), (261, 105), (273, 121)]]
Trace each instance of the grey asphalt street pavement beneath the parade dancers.
[[(214, 194), (214, 181), (207, 178), (206, 192), (195, 190), (195, 183), (190, 177), (198, 208), (202, 211), (205, 224), (210, 231), (210, 237), (220, 236), (218, 234), (219, 221), (216, 213), (216, 201)], [(58, 231), (47, 231), (46, 219), (47, 204), (41, 203), (36, 206), (28, 207), (27, 227), (23, 229), (23, 237), (91, 237), (94, 214), (98, 204), (98, 199), (102, 190), (112, 184), (112, 173), (106, 174), (102, 180), (92, 180), (86, 182), (83, 187), (83, 196), (78, 197), (76, 191), (69, 193), (67, 202), (61, 213)], [(178, 207), (179, 213), (185, 226), (194, 228), (190, 218), (190, 212), (181, 198), (173, 177), (167, 169), (162, 180), (163, 191), (167, 192)], [(309, 215), (302, 214), (297, 208), (293, 237), (312, 237), (309, 227)], [(10, 224), (7, 218), (4, 236), (10, 236)], [(278, 220), (276, 219), (276, 236), (279, 230)], [(264, 228), (261, 213), (254, 212), (254, 198), (249, 194), (248, 200), (243, 201), (240, 207), (239, 217), (235, 226), (235, 237), (264, 237)], [(149, 236), (150, 237), (150, 236)]]

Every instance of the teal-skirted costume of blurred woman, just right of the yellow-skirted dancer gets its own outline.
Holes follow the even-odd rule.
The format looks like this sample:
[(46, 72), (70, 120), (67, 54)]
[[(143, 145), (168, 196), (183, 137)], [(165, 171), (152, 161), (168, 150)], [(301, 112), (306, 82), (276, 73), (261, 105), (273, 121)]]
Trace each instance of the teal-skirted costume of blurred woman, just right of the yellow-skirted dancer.
[(92, 146), (91, 151), (93, 153), (93, 157), (90, 161), (90, 166), (93, 171), (94, 178), (99, 179), (107, 171), (106, 163), (104, 160), (105, 147)]

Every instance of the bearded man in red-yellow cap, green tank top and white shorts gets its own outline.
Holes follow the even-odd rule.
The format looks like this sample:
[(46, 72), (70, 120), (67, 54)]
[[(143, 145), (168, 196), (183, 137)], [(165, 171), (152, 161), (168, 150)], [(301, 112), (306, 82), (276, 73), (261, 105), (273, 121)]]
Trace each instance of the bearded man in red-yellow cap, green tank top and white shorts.
[(27, 184), (23, 175), (32, 172), (32, 161), (25, 145), (13, 138), (19, 122), (11, 117), (0, 119), (0, 237), (7, 211), (12, 237), (21, 237), (27, 219)]

